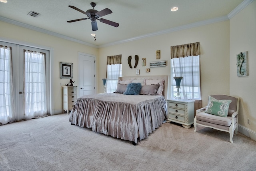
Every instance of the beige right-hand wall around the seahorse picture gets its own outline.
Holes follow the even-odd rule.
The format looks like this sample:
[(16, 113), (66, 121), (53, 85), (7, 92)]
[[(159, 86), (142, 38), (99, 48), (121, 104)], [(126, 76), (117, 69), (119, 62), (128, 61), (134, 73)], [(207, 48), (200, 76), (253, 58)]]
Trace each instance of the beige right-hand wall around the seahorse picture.
[[(236, 76), (236, 54), (248, 51), (248, 76)], [(238, 123), (256, 133), (256, 1), (230, 19), (230, 95), (240, 97)], [(250, 124), (247, 123), (250, 119)], [(245, 132), (246, 134), (246, 132)], [(255, 139), (255, 138), (254, 138)]]

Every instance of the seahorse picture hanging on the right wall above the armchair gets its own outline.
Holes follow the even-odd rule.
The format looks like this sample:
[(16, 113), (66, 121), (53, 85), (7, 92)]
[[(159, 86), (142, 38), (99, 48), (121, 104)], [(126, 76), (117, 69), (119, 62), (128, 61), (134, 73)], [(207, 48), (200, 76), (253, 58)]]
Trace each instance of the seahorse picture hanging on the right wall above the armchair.
[(238, 77), (248, 76), (248, 51), (236, 55), (236, 74)]

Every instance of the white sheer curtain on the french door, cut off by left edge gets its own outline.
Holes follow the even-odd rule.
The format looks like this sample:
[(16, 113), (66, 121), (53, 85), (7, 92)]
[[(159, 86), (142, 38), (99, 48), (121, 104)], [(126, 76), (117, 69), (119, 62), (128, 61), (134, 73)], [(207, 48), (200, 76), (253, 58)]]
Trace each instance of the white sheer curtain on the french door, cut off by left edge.
[(0, 125), (15, 117), (11, 48), (0, 46)]

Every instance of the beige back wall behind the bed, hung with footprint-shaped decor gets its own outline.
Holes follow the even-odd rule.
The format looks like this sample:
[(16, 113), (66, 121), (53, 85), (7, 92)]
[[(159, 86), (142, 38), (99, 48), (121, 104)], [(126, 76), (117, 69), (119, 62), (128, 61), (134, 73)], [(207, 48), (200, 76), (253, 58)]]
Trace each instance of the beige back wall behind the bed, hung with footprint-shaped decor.
[[(98, 65), (103, 70), (98, 71), (98, 78), (104, 78), (106, 75), (106, 57), (118, 54), (122, 54), (122, 76), (136, 76), (136, 69), (140, 70), (140, 76), (170, 76), (170, 46), (200, 42), (202, 100), (205, 106), (208, 95), (216, 93), (229, 95), (229, 30), (229, 21), (224, 21), (100, 48)], [(160, 50), (159, 60), (156, 60), (156, 50)], [(127, 58), (132, 56), (132, 66), (134, 66), (135, 55), (139, 56), (139, 64), (137, 68), (130, 69)], [(141, 66), (142, 58), (146, 58), (144, 67)], [(149, 62), (161, 60), (166, 60), (166, 67), (149, 67)], [(146, 73), (146, 68), (150, 68), (149, 73)], [(174, 81), (172, 78), (169, 79)]]

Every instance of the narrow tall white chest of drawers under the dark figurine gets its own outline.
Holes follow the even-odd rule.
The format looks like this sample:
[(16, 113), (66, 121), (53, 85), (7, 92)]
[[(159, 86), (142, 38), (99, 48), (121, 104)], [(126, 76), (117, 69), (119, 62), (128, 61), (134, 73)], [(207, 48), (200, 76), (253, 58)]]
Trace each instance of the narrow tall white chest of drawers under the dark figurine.
[(77, 86), (62, 86), (63, 89), (63, 112), (69, 112), (73, 109), (76, 102)]

